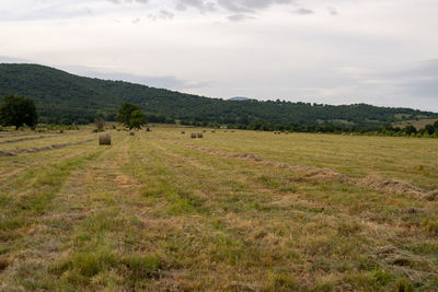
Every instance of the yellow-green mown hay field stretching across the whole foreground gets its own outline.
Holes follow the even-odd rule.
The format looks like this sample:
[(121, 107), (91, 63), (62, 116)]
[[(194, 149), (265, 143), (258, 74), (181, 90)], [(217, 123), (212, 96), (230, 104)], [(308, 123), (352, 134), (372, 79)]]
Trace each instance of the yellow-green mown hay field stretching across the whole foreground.
[(1, 135), (0, 291), (437, 291), (438, 139), (189, 133)]

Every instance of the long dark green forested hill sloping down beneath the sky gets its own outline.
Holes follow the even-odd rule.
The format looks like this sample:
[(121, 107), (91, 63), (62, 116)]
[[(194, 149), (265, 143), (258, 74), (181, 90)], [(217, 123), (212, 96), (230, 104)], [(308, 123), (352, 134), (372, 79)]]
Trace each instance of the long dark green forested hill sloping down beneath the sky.
[[(383, 126), (403, 119), (438, 118), (438, 114), (366, 104), (316, 105), (281, 101), (224, 101), (122, 81), (73, 75), (38, 65), (0, 65), (0, 96), (13, 93), (35, 101), (42, 121), (114, 120), (123, 102), (140, 105), (150, 118), (183, 122)], [(274, 97), (274, 96), (273, 96)]]

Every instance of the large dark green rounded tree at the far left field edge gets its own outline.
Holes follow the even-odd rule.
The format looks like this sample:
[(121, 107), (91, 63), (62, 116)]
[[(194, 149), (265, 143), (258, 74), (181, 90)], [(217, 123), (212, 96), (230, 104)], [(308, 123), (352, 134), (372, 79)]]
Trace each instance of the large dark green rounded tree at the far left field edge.
[(38, 113), (34, 101), (13, 94), (3, 96), (2, 100), (0, 105), (0, 124), (2, 126), (15, 126), (15, 129), (23, 125), (36, 126)]

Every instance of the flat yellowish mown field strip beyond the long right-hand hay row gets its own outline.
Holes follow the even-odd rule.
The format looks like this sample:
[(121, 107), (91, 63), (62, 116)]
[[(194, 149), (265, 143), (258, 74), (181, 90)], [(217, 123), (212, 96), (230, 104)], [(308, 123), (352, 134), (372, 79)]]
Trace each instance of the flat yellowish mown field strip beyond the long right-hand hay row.
[(268, 132), (207, 132), (191, 140), (175, 130), (157, 135), (219, 151), (253, 153), (268, 161), (331, 168), (353, 177), (378, 175), (427, 189), (438, 188), (438, 140)]

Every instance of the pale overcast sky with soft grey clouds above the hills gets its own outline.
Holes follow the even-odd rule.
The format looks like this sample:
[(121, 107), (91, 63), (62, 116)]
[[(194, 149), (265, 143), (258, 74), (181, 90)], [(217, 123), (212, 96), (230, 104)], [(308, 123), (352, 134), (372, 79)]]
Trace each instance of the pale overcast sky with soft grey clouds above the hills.
[(211, 97), (438, 112), (437, 0), (0, 0), (0, 61)]

